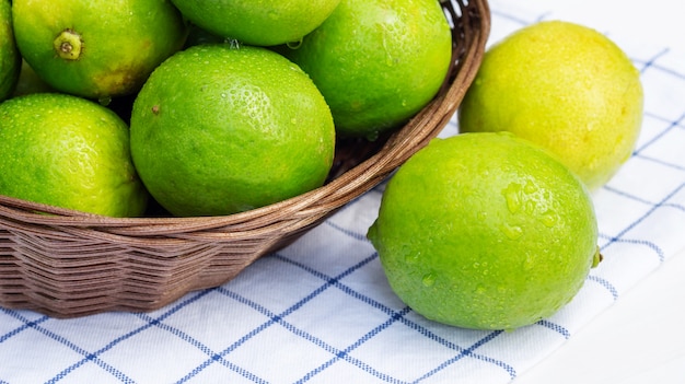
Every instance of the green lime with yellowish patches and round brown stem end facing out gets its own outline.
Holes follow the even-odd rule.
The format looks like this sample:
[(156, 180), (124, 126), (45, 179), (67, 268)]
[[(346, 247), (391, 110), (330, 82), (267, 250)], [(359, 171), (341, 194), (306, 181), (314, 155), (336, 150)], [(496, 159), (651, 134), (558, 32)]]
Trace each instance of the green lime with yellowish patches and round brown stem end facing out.
[(107, 101), (137, 92), (187, 25), (169, 0), (14, 0), (16, 45), (58, 91)]

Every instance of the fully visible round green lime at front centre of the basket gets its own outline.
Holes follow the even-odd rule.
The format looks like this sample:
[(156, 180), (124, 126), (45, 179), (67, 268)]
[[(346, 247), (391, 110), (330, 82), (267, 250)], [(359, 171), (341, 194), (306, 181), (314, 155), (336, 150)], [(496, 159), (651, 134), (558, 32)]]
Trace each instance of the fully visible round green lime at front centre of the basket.
[(231, 214), (321, 186), (335, 127), (309, 77), (260, 47), (201, 45), (160, 66), (133, 103), (131, 151), (175, 216)]

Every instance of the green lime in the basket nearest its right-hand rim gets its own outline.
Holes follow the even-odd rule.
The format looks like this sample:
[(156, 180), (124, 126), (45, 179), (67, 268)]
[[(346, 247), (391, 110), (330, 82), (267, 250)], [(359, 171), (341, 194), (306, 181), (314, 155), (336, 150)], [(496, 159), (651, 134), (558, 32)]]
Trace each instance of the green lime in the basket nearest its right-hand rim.
[(374, 139), (433, 98), (452, 36), (434, 0), (342, 0), (285, 55), (326, 97), (338, 135)]

